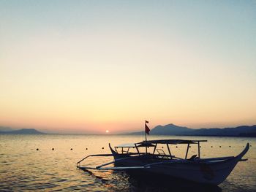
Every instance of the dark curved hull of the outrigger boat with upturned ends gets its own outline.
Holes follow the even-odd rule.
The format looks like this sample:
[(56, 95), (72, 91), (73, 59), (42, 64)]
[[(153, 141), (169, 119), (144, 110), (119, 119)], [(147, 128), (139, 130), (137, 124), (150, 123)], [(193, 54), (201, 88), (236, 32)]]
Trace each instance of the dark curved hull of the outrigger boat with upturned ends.
[(117, 166), (145, 166), (148, 164), (150, 165), (148, 166), (148, 169), (142, 169), (143, 171), (152, 174), (165, 174), (168, 177), (176, 177), (208, 185), (219, 185), (222, 183), (248, 149), (249, 144), (246, 145), (246, 148), (241, 154), (221, 161), (195, 159), (192, 161), (166, 161), (161, 164), (154, 164), (156, 160), (151, 159), (148, 155), (138, 155), (132, 158), (126, 158), (129, 157), (129, 154), (118, 154), (110, 148)]

